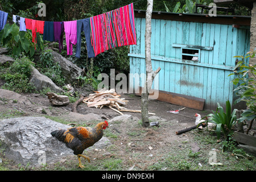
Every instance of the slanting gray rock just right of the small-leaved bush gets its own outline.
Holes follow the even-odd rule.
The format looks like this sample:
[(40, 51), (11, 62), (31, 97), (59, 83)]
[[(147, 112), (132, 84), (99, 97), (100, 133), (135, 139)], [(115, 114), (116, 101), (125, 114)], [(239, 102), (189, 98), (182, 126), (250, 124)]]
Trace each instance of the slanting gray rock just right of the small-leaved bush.
[(64, 92), (59, 86), (57, 86), (49, 77), (39, 73), (36, 68), (32, 68), (30, 82), (34, 83), (36, 90), (40, 91), (44, 88), (49, 88), (53, 92)]

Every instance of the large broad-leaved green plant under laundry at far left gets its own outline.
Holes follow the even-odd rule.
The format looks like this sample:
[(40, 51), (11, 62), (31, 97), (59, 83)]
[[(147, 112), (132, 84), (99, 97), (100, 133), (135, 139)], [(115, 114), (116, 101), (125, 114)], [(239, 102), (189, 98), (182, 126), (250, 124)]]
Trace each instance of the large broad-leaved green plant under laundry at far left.
[[(42, 36), (39, 33), (36, 33), (36, 35), (36, 47), (42, 50), (44, 48)], [(35, 44), (32, 43), (31, 31), (19, 31), (19, 27), (15, 23), (13, 25), (5, 25), (0, 32), (0, 44), (13, 49), (14, 56), (19, 56), (21, 52), (27, 55), (29, 53), (30, 56), (33, 56), (35, 53)]]

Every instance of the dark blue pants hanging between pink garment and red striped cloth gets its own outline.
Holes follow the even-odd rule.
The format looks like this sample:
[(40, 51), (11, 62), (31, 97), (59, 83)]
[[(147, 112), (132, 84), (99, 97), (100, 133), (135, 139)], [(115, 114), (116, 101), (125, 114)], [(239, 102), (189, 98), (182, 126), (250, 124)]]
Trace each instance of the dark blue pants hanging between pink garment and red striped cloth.
[(95, 57), (92, 42), (90, 41), (90, 18), (77, 20), (77, 25), (76, 26), (77, 26), (76, 57), (80, 57), (81, 40), (82, 40), (81, 33), (82, 33), (82, 31), (84, 31), (84, 34), (85, 34), (88, 58)]

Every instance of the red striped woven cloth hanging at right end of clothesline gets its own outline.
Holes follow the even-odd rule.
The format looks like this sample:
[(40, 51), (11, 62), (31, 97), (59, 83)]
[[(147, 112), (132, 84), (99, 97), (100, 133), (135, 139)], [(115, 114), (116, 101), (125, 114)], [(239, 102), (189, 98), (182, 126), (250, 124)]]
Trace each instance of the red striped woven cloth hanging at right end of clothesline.
[(90, 18), (95, 56), (108, 49), (137, 44), (133, 3)]

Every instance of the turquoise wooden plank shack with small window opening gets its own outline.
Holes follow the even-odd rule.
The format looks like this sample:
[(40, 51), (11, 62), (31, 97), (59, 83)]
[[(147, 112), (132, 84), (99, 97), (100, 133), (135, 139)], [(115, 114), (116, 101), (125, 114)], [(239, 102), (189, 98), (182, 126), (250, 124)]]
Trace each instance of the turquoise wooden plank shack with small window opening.
[[(135, 10), (137, 45), (130, 46), (130, 89), (144, 85), (146, 11)], [(237, 58), (250, 48), (250, 16), (175, 14), (153, 11), (151, 59), (158, 67), (159, 90), (204, 100), (216, 110), (236, 99), (231, 82)], [(138, 73), (136, 75), (136, 73)], [(154, 85), (153, 85), (154, 88)]]

